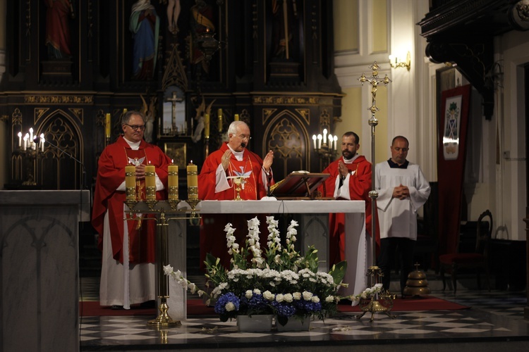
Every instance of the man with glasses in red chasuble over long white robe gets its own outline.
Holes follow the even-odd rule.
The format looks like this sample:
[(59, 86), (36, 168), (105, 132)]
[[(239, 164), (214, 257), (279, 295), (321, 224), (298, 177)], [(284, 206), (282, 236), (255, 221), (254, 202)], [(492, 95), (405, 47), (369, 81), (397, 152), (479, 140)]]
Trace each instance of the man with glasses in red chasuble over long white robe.
[[(113, 308), (155, 299), (154, 220), (123, 220), (128, 207), (125, 167), (135, 165), (136, 195), (145, 200), (145, 165), (154, 165), (156, 199), (166, 199), (168, 165), (171, 159), (161, 149), (143, 140), (145, 115), (128, 111), (121, 118), (123, 135), (99, 157), (92, 209), (92, 225), (99, 234), (103, 252), (99, 303)], [(147, 216), (142, 215), (145, 219)]]

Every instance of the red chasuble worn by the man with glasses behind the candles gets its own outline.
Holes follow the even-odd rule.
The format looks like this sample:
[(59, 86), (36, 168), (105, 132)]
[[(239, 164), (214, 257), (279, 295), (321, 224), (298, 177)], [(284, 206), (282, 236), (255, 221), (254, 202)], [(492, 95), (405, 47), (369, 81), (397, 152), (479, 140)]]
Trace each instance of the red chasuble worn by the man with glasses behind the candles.
[[(97, 181), (92, 208), (92, 225), (99, 233), (98, 246), (103, 246), (104, 215), (109, 211), (110, 236), (114, 259), (123, 263), (123, 203), (126, 199), (125, 191), (116, 189), (125, 180), (125, 167), (130, 163), (154, 165), (156, 174), (165, 185), (167, 184), (167, 166), (171, 159), (161, 149), (145, 141), (140, 143), (137, 151), (130, 149), (123, 137), (118, 137), (116, 143), (107, 146), (99, 157)], [(145, 180), (137, 182), (138, 198), (145, 199)], [(156, 199), (166, 199), (165, 191), (157, 191)], [(147, 215), (143, 215), (145, 218)], [(154, 216), (154, 215), (150, 215)], [(143, 220), (138, 228), (138, 221), (128, 221), (129, 260), (130, 263), (154, 263), (154, 240), (156, 222)]]

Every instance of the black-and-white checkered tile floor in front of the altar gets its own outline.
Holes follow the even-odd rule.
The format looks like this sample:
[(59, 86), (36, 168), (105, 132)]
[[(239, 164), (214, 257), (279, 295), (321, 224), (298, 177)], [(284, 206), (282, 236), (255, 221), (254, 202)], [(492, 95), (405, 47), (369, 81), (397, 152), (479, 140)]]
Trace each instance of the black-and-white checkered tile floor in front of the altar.
[[(97, 279), (82, 279), (85, 300), (97, 299)], [(251, 348), (267, 351), (351, 350), (409, 351), (427, 348), (449, 351), (529, 351), (529, 321), (523, 319), (525, 291), (478, 291), (458, 287), (456, 296), (442, 292), (442, 285), (430, 281), (432, 296), (470, 306), (467, 310), (395, 312), (391, 319), (375, 314), (357, 320), (355, 313), (341, 313), (311, 322), (305, 332), (238, 332), (236, 322), (220, 322), (216, 317), (192, 317), (181, 327), (156, 330), (147, 327), (155, 317), (85, 317), (80, 321), (81, 351), (155, 351), (186, 348), (205, 351)], [(92, 295), (92, 296), (90, 296)], [(430, 346), (432, 345), (432, 346)]]

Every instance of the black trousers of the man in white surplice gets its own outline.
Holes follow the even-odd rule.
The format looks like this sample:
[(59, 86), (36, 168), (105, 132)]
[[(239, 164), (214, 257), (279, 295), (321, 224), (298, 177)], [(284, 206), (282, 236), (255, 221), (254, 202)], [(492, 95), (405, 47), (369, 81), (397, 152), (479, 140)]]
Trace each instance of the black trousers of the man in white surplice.
[(391, 269), (395, 264), (395, 254), (398, 251), (400, 254), (401, 263), (401, 294), (406, 287), (408, 274), (413, 271), (413, 251), (415, 250), (415, 241), (403, 237), (389, 237), (380, 239), (380, 253), (378, 258), (378, 266), (382, 270), (382, 287), (389, 289), (389, 282), (391, 281)]

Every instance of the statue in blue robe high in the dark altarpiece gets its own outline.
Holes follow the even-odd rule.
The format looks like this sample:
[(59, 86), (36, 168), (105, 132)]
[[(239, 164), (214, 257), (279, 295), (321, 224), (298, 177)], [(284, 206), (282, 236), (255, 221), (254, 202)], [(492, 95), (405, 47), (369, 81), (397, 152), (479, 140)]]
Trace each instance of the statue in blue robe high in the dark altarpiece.
[(150, 0), (138, 0), (130, 13), (133, 34), (133, 80), (152, 80), (156, 67), (160, 19)]

